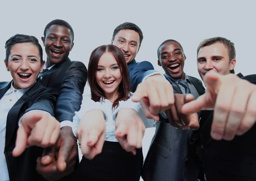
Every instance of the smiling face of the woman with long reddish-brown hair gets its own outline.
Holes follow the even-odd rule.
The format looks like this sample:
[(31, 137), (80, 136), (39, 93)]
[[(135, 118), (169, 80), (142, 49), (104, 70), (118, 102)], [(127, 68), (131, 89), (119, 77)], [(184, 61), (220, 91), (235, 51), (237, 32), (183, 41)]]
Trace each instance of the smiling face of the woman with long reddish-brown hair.
[(122, 75), (116, 59), (105, 52), (100, 58), (96, 72), (96, 82), (102, 88), (108, 100), (115, 100), (118, 96)]

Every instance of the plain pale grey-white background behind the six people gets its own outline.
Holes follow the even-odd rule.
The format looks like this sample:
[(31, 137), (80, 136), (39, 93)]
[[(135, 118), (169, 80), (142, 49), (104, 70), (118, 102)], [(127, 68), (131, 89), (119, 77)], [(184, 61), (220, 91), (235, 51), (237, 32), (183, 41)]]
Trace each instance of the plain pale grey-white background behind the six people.
[[(198, 44), (205, 38), (222, 36), (235, 43), (236, 73), (255, 73), (256, 12), (253, 0), (0, 0), (0, 81), (12, 79), (3, 63), (6, 40), (19, 33), (34, 35), (41, 42), (45, 26), (54, 19), (66, 20), (73, 27), (75, 45), (70, 59), (86, 66), (93, 49), (111, 43), (116, 26), (132, 22), (144, 35), (136, 60), (148, 60), (160, 72), (163, 70), (157, 65), (157, 47), (164, 40), (180, 42), (187, 57), (186, 74), (200, 78), (196, 65)], [(153, 133), (154, 129), (151, 129), (150, 134), (146, 134), (147, 145)]]

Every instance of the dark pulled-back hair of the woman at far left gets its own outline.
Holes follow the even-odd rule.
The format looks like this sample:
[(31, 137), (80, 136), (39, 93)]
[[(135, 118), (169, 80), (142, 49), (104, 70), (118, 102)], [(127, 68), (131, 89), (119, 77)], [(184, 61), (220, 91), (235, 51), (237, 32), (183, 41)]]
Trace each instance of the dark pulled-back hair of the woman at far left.
[(32, 43), (33, 45), (38, 47), (41, 63), (43, 63), (43, 49), (38, 42), (38, 39), (34, 36), (25, 35), (25, 34), (15, 34), (10, 37), (9, 40), (6, 41), (5, 49), (6, 49), (6, 62), (8, 62), (8, 57), (11, 52), (12, 46), (17, 43)]

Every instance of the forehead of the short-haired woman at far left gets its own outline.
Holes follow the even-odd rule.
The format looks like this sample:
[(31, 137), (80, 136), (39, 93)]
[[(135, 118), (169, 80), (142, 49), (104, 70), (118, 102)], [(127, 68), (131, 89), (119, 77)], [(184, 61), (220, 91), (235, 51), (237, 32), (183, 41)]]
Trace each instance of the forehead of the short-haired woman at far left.
[(17, 43), (12, 46), (10, 55), (39, 55), (38, 47), (33, 45), (32, 43)]

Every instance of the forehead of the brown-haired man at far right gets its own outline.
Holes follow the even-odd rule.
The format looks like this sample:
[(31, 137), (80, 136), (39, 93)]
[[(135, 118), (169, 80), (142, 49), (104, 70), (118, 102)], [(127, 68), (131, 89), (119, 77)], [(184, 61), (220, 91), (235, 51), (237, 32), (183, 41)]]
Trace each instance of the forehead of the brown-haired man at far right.
[(198, 57), (212, 57), (212, 56), (222, 56), (228, 58), (227, 47), (220, 42), (214, 43), (209, 46), (204, 46), (198, 51)]

